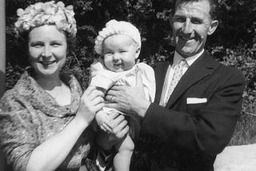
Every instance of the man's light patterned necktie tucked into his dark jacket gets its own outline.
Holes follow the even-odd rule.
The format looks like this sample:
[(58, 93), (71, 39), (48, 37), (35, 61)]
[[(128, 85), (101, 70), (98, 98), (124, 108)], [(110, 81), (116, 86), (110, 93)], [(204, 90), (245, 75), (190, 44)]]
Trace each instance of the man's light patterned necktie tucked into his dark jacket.
[(171, 93), (173, 93), (175, 86), (178, 84), (179, 80), (182, 78), (182, 69), (185, 66), (187, 66), (185, 59), (182, 59), (180, 62), (178, 62), (178, 64), (176, 66), (174, 66), (174, 76), (171, 79), (169, 90), (166, 87), (167, 88), (166, 91), (168, 90), (166, 99), (161, 101), (160, 105), (166, 106), (166, 103), (167, 103)]

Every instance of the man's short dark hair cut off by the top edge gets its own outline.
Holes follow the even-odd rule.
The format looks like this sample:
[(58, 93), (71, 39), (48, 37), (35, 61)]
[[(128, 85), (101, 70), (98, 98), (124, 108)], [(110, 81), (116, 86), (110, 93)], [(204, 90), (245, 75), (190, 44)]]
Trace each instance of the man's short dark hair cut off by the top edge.
[[(188, 3), (188, 2), (200, 2), (202, 0), (177, 0), (175, 4), (175, 10), (176, 7), (180, 3)], [(213, 20), (216, 20), (218, 18), (218, 0), (207, 0), (210, 2), (210, 18)]]

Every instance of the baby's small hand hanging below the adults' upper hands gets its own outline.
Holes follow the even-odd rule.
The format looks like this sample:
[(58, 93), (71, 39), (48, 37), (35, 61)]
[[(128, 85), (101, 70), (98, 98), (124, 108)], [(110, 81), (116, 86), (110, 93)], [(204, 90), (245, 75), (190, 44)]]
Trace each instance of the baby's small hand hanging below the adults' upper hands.
[(95, 119), (100, 129), (107, 133), (111, 133), (112, 126), (110, 124), (110, 117), (107, 113), (100, 110), (98, 113), (96, 113)]

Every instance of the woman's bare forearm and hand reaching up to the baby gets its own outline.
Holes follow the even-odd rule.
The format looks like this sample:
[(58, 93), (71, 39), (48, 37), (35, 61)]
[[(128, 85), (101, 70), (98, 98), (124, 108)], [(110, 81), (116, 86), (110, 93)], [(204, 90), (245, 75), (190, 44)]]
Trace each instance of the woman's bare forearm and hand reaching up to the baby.
[(90, 86), (83, 93), (76, 117), (31, 153), (26, 170), (55, 170), (69, 155), (78, 138), (104, 105), (102, 91)]

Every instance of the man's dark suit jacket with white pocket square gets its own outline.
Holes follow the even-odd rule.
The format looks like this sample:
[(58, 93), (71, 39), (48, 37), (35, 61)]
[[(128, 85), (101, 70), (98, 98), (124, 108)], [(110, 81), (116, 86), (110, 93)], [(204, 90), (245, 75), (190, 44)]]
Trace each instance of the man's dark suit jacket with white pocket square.
[[(215, 157), (230, 141), (238, 121), (244, 77), (205, 50), (162, 107), (158, 103), (168, 65), (170, 62), (154, 66), (156, 97), (142, 121), (142, 136), (152, 140), (152, 148), (147, 149), (148, 160), (154, 164), (150, 169), (214, 170)], [(189, 97), (206, 98), (206, 102), (187, 104)]]

